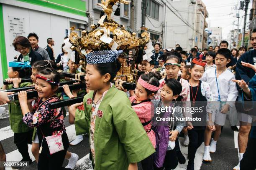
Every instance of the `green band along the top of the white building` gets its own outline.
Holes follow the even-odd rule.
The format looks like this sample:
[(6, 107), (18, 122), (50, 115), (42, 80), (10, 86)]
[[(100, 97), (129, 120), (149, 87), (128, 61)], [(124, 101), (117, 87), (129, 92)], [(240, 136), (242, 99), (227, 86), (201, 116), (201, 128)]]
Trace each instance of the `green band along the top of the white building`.
[[(86, 13), (85, 13), (86, 6), (85, 6), (85, 2), (82, 0), (48, 0), (49, 2), (45, 2), (42, 0), (18, 0), (18, 1), (27, 2), (27, 3), (31, 3), (34, 5), (40, 5), (43, 7), (49, 7), (49, 8), (55, 9), (55, 10), (60, 10), (60, 11), (64, 11), (67, 13), (82, 15), (82, 16), (86, 17)], [(60, 5), (55, 5), (50, 2), (65, 5), (65, 6), (72, 7), (72, 8), (78, 9), (78, 10), (83, 10), (84, 12), (78, 11), (78, 10), (73, 10), (68, 7), (63, 7)]]

